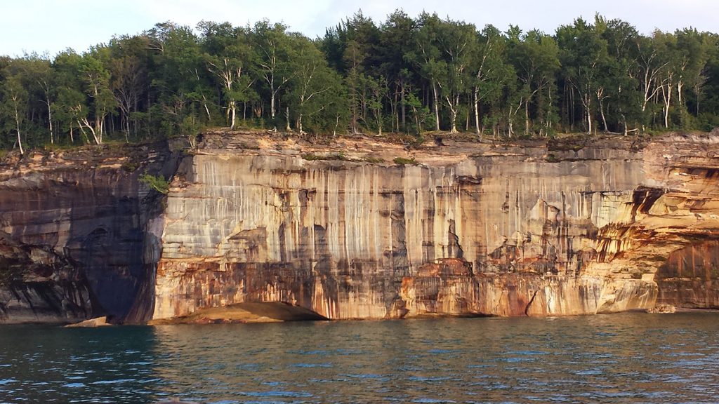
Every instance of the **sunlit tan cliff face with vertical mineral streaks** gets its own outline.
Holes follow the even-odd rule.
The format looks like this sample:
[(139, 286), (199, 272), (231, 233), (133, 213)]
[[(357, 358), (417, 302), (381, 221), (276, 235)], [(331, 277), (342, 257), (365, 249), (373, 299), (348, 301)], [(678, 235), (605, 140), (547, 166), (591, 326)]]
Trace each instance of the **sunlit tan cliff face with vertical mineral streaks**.
[(718, 235), (715, 138), (428, 142), (411, 156), (362, 139), (312, 158), (239, 141), (210, 139), (180, 165), (153, 318), (246, 301), (326, 318), (583, 314), (683, 306), (681, 288), (718, 306), (714, 283), (655, 279), (669, 254)]

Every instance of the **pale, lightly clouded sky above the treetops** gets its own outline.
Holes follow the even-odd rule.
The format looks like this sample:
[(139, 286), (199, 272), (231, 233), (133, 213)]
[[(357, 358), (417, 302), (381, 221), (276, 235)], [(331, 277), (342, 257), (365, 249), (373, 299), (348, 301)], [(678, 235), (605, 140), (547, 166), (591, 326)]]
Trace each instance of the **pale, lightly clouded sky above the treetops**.
[(598, 12), (644, 34), (684, 27), (719, 32), (719, 0), (0, 0), (0, 55), (53, 57), (68, 47), (84, 52), (113, 35), (134, 35), (165, 21), (195, 27), (202, 20), (238, 26), (269, 19), (313, 38), (359, 9), (377, 24), (403, 9), (411, 17), (436, 12), (477, 27), (515, 24), (554, 33)]

